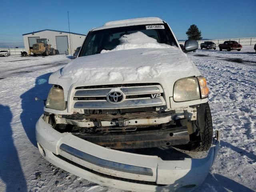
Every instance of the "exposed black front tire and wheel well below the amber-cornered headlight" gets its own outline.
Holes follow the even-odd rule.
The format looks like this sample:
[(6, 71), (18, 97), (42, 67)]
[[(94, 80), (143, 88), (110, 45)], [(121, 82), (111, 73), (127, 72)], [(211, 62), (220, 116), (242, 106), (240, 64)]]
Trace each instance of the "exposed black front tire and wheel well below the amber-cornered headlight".
[(189, 151), (208, 151), (212, 145), (213, 136), (212, 114), (208, 102), (197, 107), (196, 120), (188, 123), (194, 130), (190, 134), (190, 142), (175, 147)]

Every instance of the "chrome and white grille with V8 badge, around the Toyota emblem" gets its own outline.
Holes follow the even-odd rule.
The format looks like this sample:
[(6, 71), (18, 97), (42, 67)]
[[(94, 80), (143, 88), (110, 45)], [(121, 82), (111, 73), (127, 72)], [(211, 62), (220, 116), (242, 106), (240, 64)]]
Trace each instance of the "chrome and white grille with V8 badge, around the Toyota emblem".
[[(136, 85), (136, 86), (134, 86)], [(124, 100), (111, 103), (107, 100), (110, 92), (119, 91)], [(156, 94), (158, 96), (156, 97)], [(73, 109), (121, 109), (150, 106), (163, 106), (166, 102), (163, 89), (159, 84), (118, 84), (106, 86), (84, 86), (72, 90), (71, 106)]]

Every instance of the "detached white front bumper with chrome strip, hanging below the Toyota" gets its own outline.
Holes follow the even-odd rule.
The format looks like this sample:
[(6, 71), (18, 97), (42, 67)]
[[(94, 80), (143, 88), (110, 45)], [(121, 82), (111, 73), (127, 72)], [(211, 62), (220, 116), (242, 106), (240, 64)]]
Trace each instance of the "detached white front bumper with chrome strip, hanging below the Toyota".
[(42, 156), (55, 166), (101, 185), (145, 192), (194, 190), (206, 178), (220, 142), (219, 136), (214, 139), (205, 158), (162, 160), (104, 148), (70, 133), (60, 133), (42, 116), (36, 123), (36, 139)]

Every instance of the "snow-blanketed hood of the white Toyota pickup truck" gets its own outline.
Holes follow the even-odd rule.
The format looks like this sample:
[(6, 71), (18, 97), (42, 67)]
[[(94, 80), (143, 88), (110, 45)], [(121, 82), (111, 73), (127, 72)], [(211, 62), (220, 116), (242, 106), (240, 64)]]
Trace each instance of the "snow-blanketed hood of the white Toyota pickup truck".
[(199, 70), (179, 48), (137, 48), (78, 57), (54, 72), (50, 84), (68, 90), (73, 85), (160, 83), (172, 96), (174, 82), (200, 76)]

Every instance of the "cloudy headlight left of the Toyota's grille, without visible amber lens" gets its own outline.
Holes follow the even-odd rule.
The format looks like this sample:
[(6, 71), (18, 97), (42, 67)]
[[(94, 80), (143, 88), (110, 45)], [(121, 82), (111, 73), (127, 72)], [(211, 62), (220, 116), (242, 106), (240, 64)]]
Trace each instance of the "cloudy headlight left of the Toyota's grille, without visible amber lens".
[(56, 110), (65, 110), (66, 102), (64, 100), (64, 91), (60, 86), (53, 86), (48, 94), (46, 101), (47, 108), (52, 108)]

